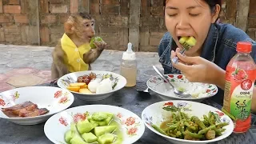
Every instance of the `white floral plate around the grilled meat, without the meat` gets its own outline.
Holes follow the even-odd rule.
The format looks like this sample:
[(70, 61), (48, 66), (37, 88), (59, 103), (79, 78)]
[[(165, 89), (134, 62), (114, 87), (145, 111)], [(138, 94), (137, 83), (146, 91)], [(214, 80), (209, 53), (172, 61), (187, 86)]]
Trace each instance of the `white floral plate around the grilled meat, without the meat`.
[(67, 109), (74, 102), (74, 95), (68, 90), (51, 86), (28, 86), (0, 93), (0, 108), (6, 108), (30, 101), (38, 108), (49, 110), (47, 114), (28, 118), (9, 118), (0, 110), (0, 118), (19, 125), (35, 125), (46, 122), (50, 116)]

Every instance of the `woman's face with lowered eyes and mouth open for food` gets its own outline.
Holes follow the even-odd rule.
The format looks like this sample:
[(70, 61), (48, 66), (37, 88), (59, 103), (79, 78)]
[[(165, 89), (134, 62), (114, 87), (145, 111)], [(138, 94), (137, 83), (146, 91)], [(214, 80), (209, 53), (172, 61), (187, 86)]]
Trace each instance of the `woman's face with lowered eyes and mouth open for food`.
[[(216, 10), (219, 11), (219, 10)], [(210, 24), (218, 18), (218, 12), (212, 13), (210, 6), (203, 0), (168, 0), (166, 1), (166, 28), (174, 38), (178, 47), (178, 39), (182, 36), (193, 36), (197, 43), (187, 55), (200, 52), (206, 39)]]

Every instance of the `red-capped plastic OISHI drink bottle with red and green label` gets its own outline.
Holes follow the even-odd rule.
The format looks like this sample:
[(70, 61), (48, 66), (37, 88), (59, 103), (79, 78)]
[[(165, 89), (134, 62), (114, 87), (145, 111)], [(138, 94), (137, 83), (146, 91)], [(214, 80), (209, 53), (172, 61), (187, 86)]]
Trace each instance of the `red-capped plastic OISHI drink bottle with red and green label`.
[(236, 118), (234, 133), (244, 133), (250, 129), (250, 106), (256, 75), (251, 49), (250, 42), (238, 42), (238, 54), (226, 66), (223, 108)]

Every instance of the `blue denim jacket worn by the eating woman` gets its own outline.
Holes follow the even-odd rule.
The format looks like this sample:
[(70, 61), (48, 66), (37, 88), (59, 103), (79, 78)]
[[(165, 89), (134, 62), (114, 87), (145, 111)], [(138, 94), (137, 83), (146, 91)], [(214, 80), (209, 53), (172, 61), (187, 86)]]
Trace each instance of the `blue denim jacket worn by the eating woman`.
[[(237, 54), (236, 46), (238, 42), (251, 42), (253, 44), (250, 54), (256, 62), (256, 42), (244, 31), (230, 24), (214, 23), (210, 26), (200, 56), (226, 70), (230, 59)], [(177, 47), (170, 33), (164, 34), (158, 46), (158, 55), (165, 74), (180, 74), (180, 71), (175, 69), (170, 62), (170, 50), (175, 50)], [(218, 94), (212, 97), (212, 100), (222, 104), (223, 90), (219, 88)]]

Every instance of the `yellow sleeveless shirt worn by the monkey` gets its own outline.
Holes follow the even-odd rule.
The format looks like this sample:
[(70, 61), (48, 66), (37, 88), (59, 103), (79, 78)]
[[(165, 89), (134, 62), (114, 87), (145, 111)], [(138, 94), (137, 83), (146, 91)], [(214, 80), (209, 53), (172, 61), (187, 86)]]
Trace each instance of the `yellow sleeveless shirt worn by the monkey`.
[(70, 72), (88, 70), (89, 65), (83, 61), (83, 54), (90, 50), (90, 43), (77, 47), (66, 34), (63, 34), (61, 42), (62, 50), (66, 53), (64, 62), (68, 70)]

